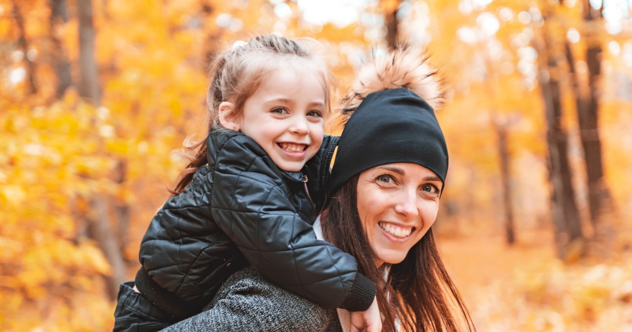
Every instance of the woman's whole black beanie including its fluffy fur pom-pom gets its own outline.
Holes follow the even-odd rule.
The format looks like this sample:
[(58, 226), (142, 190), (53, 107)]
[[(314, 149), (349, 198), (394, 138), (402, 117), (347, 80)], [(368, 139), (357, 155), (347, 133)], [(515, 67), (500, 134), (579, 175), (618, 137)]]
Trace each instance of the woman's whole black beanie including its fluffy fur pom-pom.
[(427, 59), (401, 47), (360, 69), (339, 115), (344, 130), (331, 171), (332, 194), (353, 176), (391, 163), (418, 164), (444, 183), (447, 145), (434, 112), (444, 91)]

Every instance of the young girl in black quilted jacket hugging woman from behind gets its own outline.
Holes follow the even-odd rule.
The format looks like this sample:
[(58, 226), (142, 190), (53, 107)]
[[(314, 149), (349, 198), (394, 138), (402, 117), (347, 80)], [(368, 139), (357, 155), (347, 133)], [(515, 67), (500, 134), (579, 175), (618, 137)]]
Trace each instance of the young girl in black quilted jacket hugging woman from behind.
[(197, 314), (248, 263), (320, 306), (362, 311), (379, 331), (375, 284), (312, 229), (337, 142), (323, 134), (329, 74), (313, 45), (259, 36), (214, 61), (209, 135), (142, 239), (114, 331), (157, 331)]

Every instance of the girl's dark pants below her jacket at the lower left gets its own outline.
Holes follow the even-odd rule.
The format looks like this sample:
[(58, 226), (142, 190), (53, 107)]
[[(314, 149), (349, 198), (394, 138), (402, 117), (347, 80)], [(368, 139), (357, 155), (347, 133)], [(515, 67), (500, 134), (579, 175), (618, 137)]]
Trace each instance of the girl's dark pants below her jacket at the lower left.
[(114, 332), (160, 331), (178, 321), (158, 309), (132, 287), (134, 282), (121, 283), (114, 310)]

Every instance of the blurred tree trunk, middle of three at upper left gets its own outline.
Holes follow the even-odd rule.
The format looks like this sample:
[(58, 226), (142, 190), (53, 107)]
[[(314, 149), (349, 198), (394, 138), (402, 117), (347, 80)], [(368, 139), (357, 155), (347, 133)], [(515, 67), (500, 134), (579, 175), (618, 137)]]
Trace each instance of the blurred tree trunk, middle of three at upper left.
[(71, 86), (70, 62), (61, 45), (61, 40), (57, 37), (57, 25), (59, 21), (68, 21), (66, 16), (66, 0), (49, 0), (51, 8), (51, 18), (49, 22), (51, 32), (51, 66), (57, 76), (57, 87), (55, 96), (59, 100), (63, 98), (66, 89)]

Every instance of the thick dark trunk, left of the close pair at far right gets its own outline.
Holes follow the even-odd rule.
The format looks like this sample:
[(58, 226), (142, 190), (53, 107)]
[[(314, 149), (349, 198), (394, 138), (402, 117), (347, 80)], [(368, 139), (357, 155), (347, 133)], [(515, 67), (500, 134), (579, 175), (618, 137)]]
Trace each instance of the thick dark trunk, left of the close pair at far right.
[[(557, 254), (564, 260), (581, 255), (583, 232), (579, 210), (571, 183), (568, 160), (568, 135), (562, 128), (561, 89), (559, 67), (553, 54), (546, 25), (542, 28), (542, 41), (538, 50), (538, 81), (544, 98), (549, 150), (549, 179), (552, 184), (552, 218), (555, 225)], [(578, 246), (578, 244), (580, 244)], [(580, 251), (578, 251), (580, 249)]]

